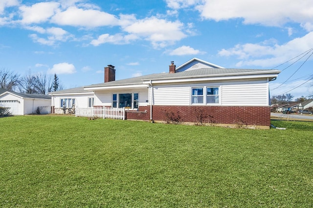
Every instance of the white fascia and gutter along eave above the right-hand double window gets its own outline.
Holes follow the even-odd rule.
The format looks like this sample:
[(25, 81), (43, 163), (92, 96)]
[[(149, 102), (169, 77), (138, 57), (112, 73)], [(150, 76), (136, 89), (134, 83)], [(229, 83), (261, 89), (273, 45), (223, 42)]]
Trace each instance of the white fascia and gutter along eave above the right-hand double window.
[[(199, 77), (186, 77), (186, 78), (178, 78), (178, 79), (159, 79), (159, 80), (151, 80), (152, 84), (163, 84), (163, 83), (177, 83), (177, 82), (198, 82), (198, 81), (215, 81), (215, 80), (231, 80), (231, 79), (252, 79), (252, 78), (267, 78), (267, 77), (277, 77), (277, 74), (259, 74), (259, 75), (242, 75), (242, 76), (199, 76)], [(150, 80), (144, 81), (143, 83), (149, 84)]]

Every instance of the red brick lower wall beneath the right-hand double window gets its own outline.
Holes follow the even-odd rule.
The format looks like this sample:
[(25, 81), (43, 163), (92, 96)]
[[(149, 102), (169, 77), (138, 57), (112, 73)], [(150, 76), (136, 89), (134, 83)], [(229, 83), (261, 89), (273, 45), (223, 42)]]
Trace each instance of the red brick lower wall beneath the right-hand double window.
[[(150, 109), (149, 109), (150, 110)], [(150, 114), (150, 113), (149, 113)], [(270, 126), (270, 107), (258, 106), (153, 106), (153, 120)]]

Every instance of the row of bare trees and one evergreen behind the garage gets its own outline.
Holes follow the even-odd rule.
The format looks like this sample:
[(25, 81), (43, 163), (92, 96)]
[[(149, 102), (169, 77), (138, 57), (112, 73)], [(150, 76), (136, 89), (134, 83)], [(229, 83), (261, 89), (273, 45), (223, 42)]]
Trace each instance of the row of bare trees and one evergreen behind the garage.
[(32, 74), (29, 70), (24, 76), (20, 76), (4, 68), (0, 69), (0, 88), (19, 93), (43, 95), (63, 90), (56, 74), (52, 78), (44, 73)]

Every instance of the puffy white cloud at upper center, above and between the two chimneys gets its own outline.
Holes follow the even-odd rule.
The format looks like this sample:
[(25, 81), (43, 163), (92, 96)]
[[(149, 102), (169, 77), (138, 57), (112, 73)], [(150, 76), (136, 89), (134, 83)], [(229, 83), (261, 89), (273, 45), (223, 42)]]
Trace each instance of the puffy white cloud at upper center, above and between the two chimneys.
[(124, 31), (142, 37), (152, 42), (155, 47), (165, 47), (187, 37), (183, 23), (168, 21), (156, 17), (140, 19), (125, 26)]

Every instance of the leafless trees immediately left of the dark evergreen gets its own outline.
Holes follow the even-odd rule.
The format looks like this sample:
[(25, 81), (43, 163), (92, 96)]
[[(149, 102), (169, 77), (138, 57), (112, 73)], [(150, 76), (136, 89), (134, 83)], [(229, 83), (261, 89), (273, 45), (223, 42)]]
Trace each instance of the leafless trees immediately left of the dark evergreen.
[(34, 75), (34, 89), (37, 94), (47, 94), (52, 91), (53, 82), (51, 77), (47, 77), (46, 74)]

